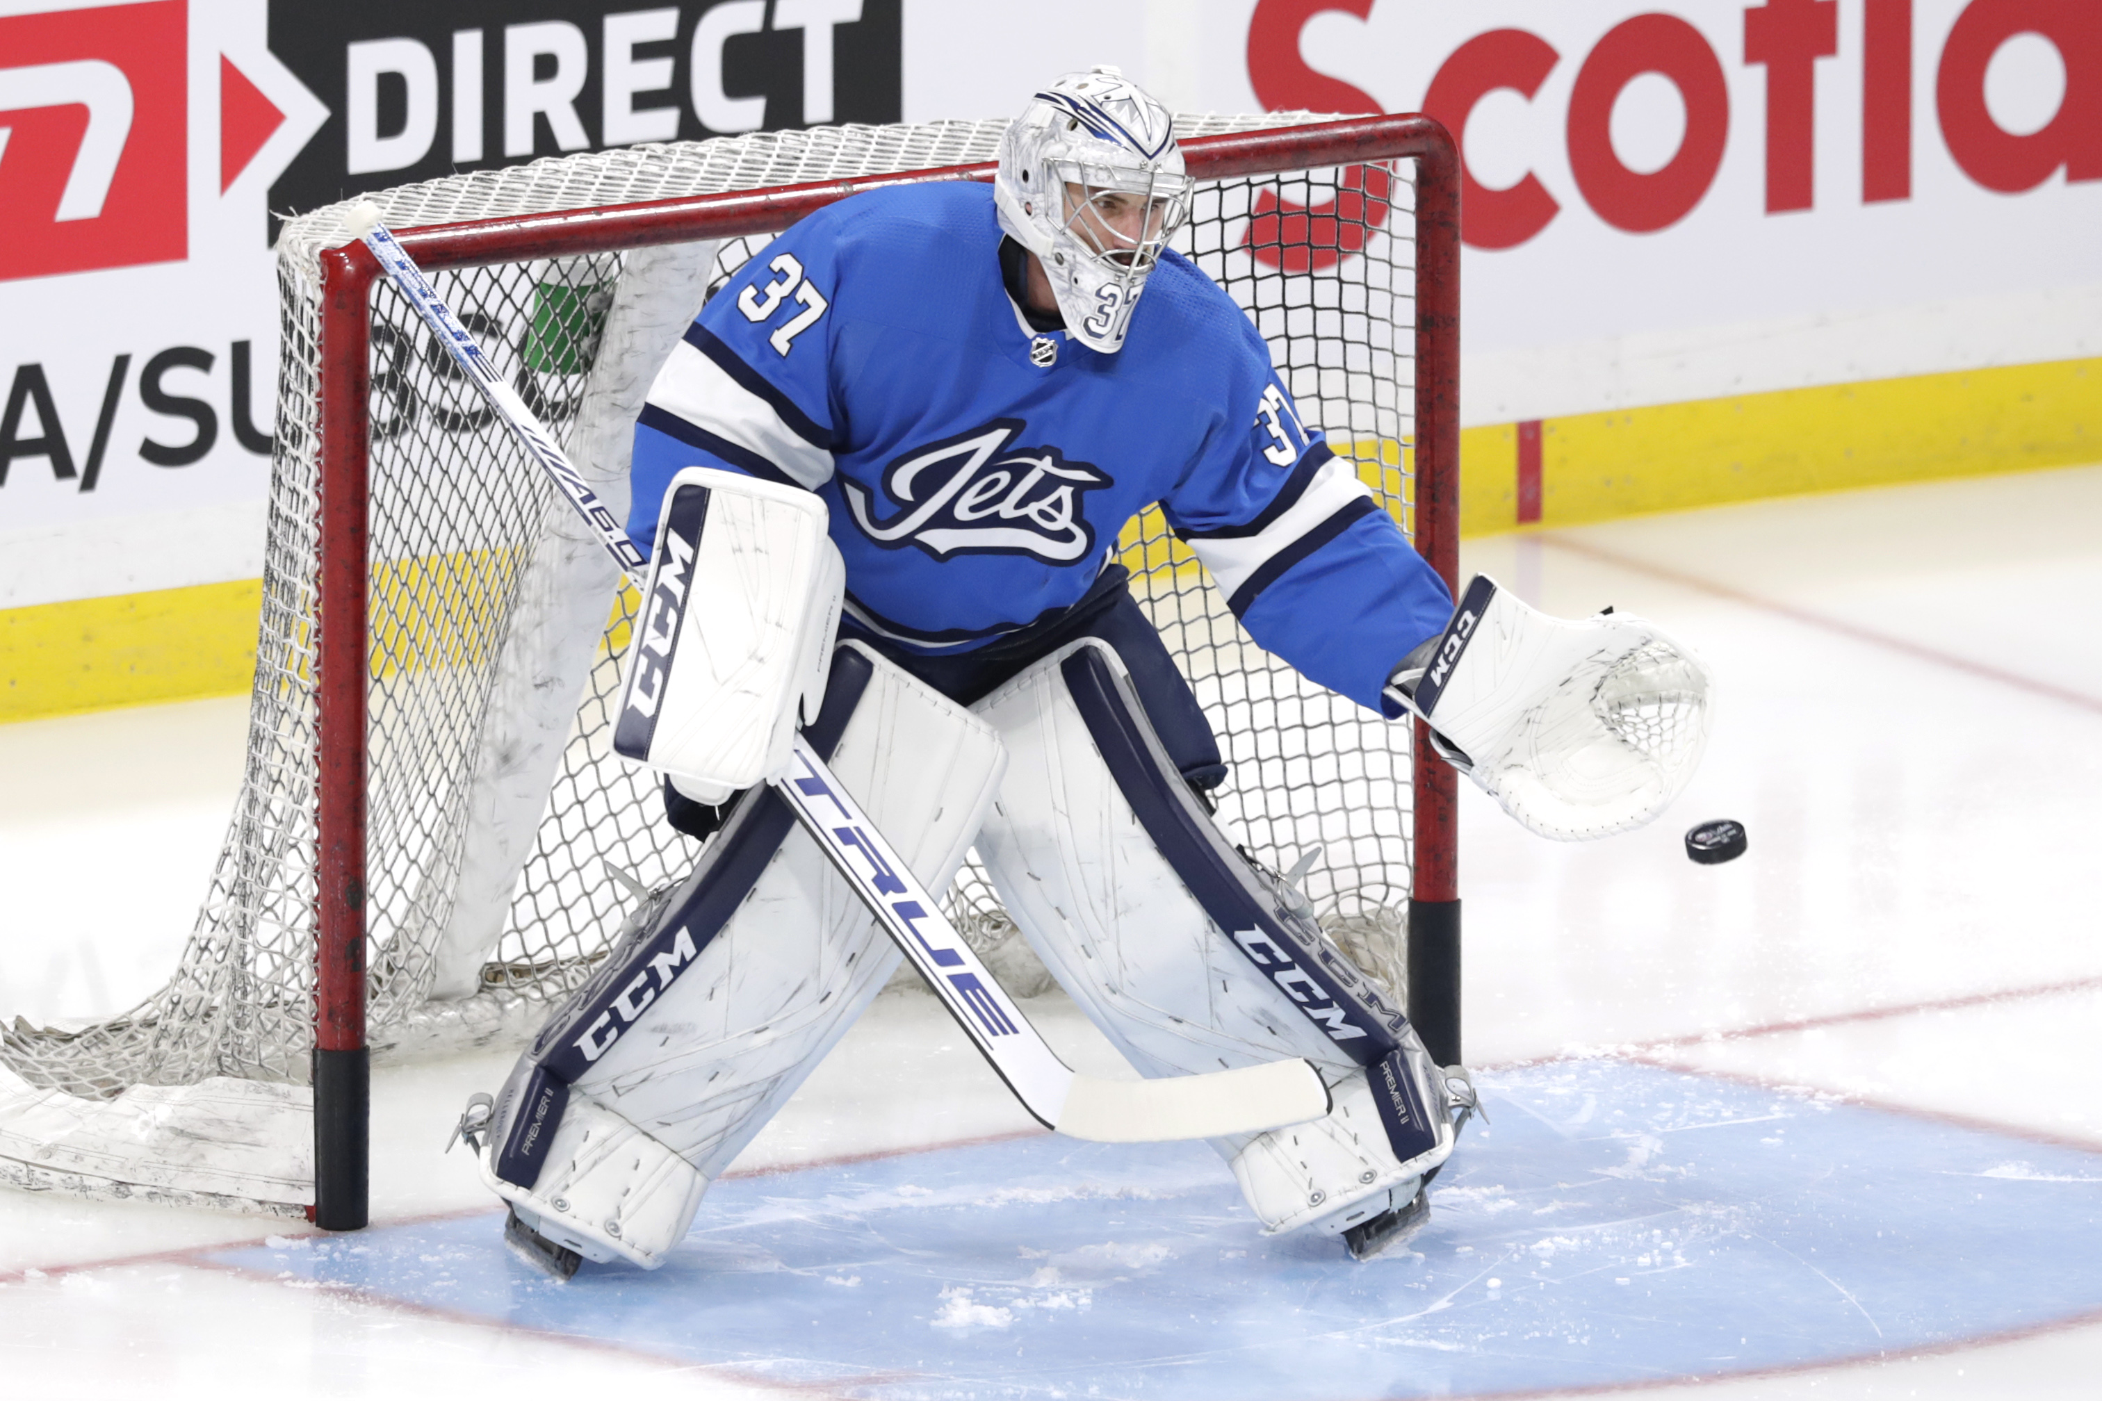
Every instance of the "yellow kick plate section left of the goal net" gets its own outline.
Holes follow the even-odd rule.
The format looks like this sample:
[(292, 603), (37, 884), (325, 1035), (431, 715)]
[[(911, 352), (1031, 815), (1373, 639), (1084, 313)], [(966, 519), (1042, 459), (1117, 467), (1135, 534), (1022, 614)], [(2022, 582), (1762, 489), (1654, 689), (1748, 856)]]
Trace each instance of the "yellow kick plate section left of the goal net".
[(0, 720), (240, 695), (263, 580), (0, 609)]

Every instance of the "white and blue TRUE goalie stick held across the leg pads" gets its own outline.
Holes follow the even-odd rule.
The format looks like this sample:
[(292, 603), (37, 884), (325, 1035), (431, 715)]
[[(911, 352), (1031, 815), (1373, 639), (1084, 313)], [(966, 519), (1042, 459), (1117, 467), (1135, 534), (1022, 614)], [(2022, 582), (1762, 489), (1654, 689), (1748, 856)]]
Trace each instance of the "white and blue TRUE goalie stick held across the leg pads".
[[(540, 416), (496, 374), (473, 334), (380, 223), (378, 208), (359, 204), (345, 225), (475, 382), (526, 454), (597, 531), (605, 552), (641, 586), (650, 561), (561, 452)], [(1253, 1134), (1328, 1113), (1328, 1088), (1307, 1061), (1135, 1082), (1074, 1073), (801, 733), (795, 737), (788, 773), (769, 781), (971, 1044), (1045, 1128), (1097, 1143), (1160, 1143)]]

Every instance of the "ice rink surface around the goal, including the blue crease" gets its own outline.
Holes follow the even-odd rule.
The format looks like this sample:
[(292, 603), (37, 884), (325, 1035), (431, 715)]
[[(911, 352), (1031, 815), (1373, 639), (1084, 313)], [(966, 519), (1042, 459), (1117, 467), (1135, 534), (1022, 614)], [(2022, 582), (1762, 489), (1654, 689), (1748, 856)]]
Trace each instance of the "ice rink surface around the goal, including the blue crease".
[[(2054, 1254), (2058, 1241), (2039, 1239), (2022, 1212), (2058, 1212), (2066, 1237), (2094, 1256), (2083, 1212), (2102, 1191), (2089, 1180), (2102, 1176), (2089, 1157), (2102, 1147), (2102, 1088), (2091, 1069), (2102, 1063), (2102, 916), (2089, 874), (2102, 790), (2098, 519), (2102, 468), (2073, 468), (1467, 544), (1469, 567), (1543, 607), (1583, 613), (1614, 603), (1661, 620), (1715, 664), (1722, 706), (1694, 788), (1663, 821), (1629, 836), (1539, 842), (1463, 786), (1469, 1059), (1509, 1067), (1583, 1048), (1612, 1059), (1488, 1078), (1505, 1101), (1490, 1105), (1497, 1117), (1486, 1134), (1469, 1126), (1440, 1183), (1421, 1260), (1360, 1269), (1333, 1243), (1310, 1243), (1303, 1258), (1293, 1254), (1299, 1243), (1263, 1243), (1202, 1149), (1148, 1157), (1154, 1166), (1129, 1178), (1099, 1164), (1093, 1176), (1051, 1172), (1034, 1155), (1066, 1149), (1049, 1138), (954, 1157), (986, 1153), (984, 1162), (1009, 1164), (1001, 1155), (1019, 1153), (1011, 1180), (990, 1189), (980, 1170), (959, 1187), (898, 1166), (948, 1162), (948, 1153), (889, 1159), (893, 1168), (868, 1159), (1028, 1130), (940, 1008), (906, 994), (877, 1000), (738, 1170), (820, 1166), (721, 1183), (689, 1250), (771, 1252), (795, 1267), (725, 1275), (774, 1300), (761, 1319), (771, 1332), (748, 1344), (765, 1359), (799, 1342), (790, 1325), (824, 1334), (809, 1319), (839, 1323), (858, 1306), (864, 1319), (883, 1313), (895, 1325), (893, 1338), (870, 1344), (870, 1359), (904, 1359), (910, 1336), (923, 1348), (914, 1365), (925, 1355), (992, 1367), (990, 1359), (1005, 1361), (1017, 1346), (1036, 1365), (1030, 1338), (1095, 1336), (1089, 1330), (1108, 1327), (1129, 1300), (1146, 1304), (1160, 1292), (1188, 1306), (1183, 1317), (1165, 1304), (1150, 1313), (1152, 1332), (1179, 1338), (1192, 1357), (1217, 1357), (1234, 1346), (1228, 1338), (1249, 1332), (1312, 1348), (1307, 1340), (1333, 1319), (1326, 1332), (1349, 1338), (1337, 1346), (1352, 1367), (1406, 1353), (1404, 1380), (1490, 1365), (1476, 1357), (1516, 1374), (1520, 1363), (1579, 1353), (1619, 1365), (1625, 1353), (1661, 1367), (1629, 1382), (1635, 1395), (1677, 1397), (1688, 1388), (1663, 1380), (1673, 1367), (1724, 1367), (1703, 1363), (1703, 1348), (1724, 1357), (1759, 1344), (1761, 1357), (1804, 1361), (1690, 1390), (1701, 1401), (2091, 1397), (2102, 1376), (2091, 1267)], [(143, 991), (166, 975), (238, 781), (242, 706), (198, 702), (0, 727), (0, 1017), (120, 1010), (130, 996), (124, 979)], [(1705, 817), (1743, 819), (1749, 855), (1719, 867), (1688, 863), (1679, 832)], [(97, 966), (82, 949), (95, 952)], [(1980, 1004), (1988, 994), (1999, 1000)], [(1112, 1069), (1101, 1057), (1114, 1052), (1070, 1004), (1043, 1004), (1030, 1017), (1062, 1054), (1089, 1073)], [(1806, 1019), (1816, 1025), (1791, 1029)], [(1566, 1094), (1549, 1094), (1553, 1075), (1612, 1071), (1625, 1084), (1667, 1084), (1646, 1080), (1661, 1071), (1629, 1067), (1631, 1059), (1698, 1071), (1690, 1082), (1698, 1092), (1688, 1090), (1682, 1105), (1730, 1105), (1743, 1094), (1743, 1107), (1776, 1103), (1793, 1117), (1717, 1128), (1644, 1122), (1614, 1138), (1600, 1115), (1625, 1109), (1623, 1101), (1600, 1094), (1583, 1120), (1574, 1080)], [(507, 1061), (479, 1054), (376, 1073), (380, 1229), (330, 1250), (376, 1250), (397, 1231), (431, 1229), (456, 1256), (446, 1288), (469, 1290), (477, 1277), (462, 1273), (465, 1262), (483, 1256), (494, 1222), (465, 1153), (446, 1157), (441, 1147), (467, 1092), (494, 1088)], [(1532, 1099), (1513, 1088), (1522, 1084)], [(1661, 1111), (1654, 1096), (1635, 1103)], [(1532, 1105), (1547, 1124), (1516, 1105)], [(1738, 1151), (1722, 1155), (1703, 1138)], [(1520, 1172), (1555, 1153), (1574, 1153), (1568, 1162), (1583, 1172), (1551, 1180)], [(1701, 1172), (1671, 1176), (1686, 1166)], [(948, 1254), (923, 1256), (931, 1264), (921, 1275), (849, 1229), (839, 1250), (790, 1260), (767, 1243), (767, 1231), (792, 1233), (799, 1212), (847, 1218), (845, 1208), (811, 1210), (801, 1195), (797, 1183), (822, 1174), (834, 1174), (828, 1180), (843, 1201), (849, 1189), (866, 1195), (893, 1183), (895, 1201), (870, 1197), (856, 1208), (864, 1233), (866, 1222), (940, 1227), (954, 1216), (980, 1222), (984, 1235), (952, 1231), (935, 1241)], [(1171, 1195), (1114, 1195), (1156, 1187)], [(994, 1191), (1013, 1195), (990, 1201)], [(940, 1206), (937, 1193), (948, 1193)], [(1648, 1212), (1640, 1229), (1669, 1229), (1669, 1237), (1637, 1241), (1642, 1212), (1600, 1216), (1614, 1197), (1598, 1193), (1627, 1193), (1627, 1204)], [(1955, 1210), (1965, 1193), (1982, 1216)], [(1917, 1210), (1896, 1212), (1902, 1201)], [(736, 1216), (746, 1208), (750, 1220)], [(759, 1220), (761, 1208), (771, 1225)], [(467, 1216), (452, 1225), (431, 1220), (458, 1212)], [(1877, 1237), (1894, 1229), (1892, 1216), (1904, 1233)], [(1022, 1243), (1007, 1225), (1022, 1218), (1089, 1229)], [(1825, 1271), (1860, 1309), (1806, 1264), (1730, 1233), (1747, 1220), (1768, 1222), (1764, 1239)], [(23, 1395), (214, 1401), (288, 1390), (401, 1401), (498, 1386), (540, 1395), (755, 1390), (755, 1374), (740, 1363), (696, 1365), (689, 1353), (664, 1351), (666, 1338), (696, 1346), (700, 1330), (677, 1319), (650, 1336), (637, 1332), (639, 1342), (538, 1334), (502, 1309), (452, 1311), (385, 1290), (322, 1285), (296, 1271), (259, 1273), (252, 1264), (271, 1256), (267, 1235), (311, 1239), (256, 1218), (0, 1193), (0, 1374)], [(1541, 1241), (1545, 1254), (1534, 1252)], [(248, 1243), (242, 1267), (200, 1254), (229, 1243)], [(1194, 1254), (1202, 1250), (1211, 1254)], [(973, 1269), (959, 1273), (959, 1260)], [(1604, 1269), (1581, 1275), (1579, 1262)], [(1736, 1292), (1717, 1285), (1698, 1304), (1696, 1285), (1724, 1279), (1726, 1264), (1743, 1271), (1730, 1275)], [(1373, 1334), (1352, 1290), (1366, 1279), (1421, 1279), (1423, 1290), (1404, 1288), (1419, 1296), (1431, 1277), (1448, 1288), (1474, 1283), (1444, 1311), (1396, 1325), (1394, 1336), (1423, 1346), (1362, 1342)], [(1614, 1283), (1621, 1277), (1629, 1283)], [(389, 1288), (404, 1279), (389, 1275)], [(698, 1271), (687, 1283), (696, 1279)], [(1228, 1313), (1238, 1309), (1230, 1285), (1246, 1279), (1280, 1292), (1263, 1296), (1253, 1330), (1230, 1334), (1228, 1321), (1246, 1321)], [(1501, 1281), (1495, 1300), (1490, 1279)], [(662, 1317), (652, 1298), (666, 1281), (620, 1283), (626, 1302), (607, 1317)], [(607, 1283), (586, 1279), (584, 1290), (603, 1294)], [(1652, 1294), (1640, 1306), (1616, 1302), (1635, 1290)], [(1686, 1313), (1661, 1313), (1658, 1300)], [(1728, 1334), (1724, 1321), (1747, 1313), (1764, 1319), (1761, 1332)], [(1471, 1353), (1446, 1351), (1492, 1325), (1505, 1336), (1465, 1342)], [(1579, 1325), (1591, 1330), (1589, 1344), (1566, 1340)], [(2028, 1332), (1995, 1332), (2005, 1327)], [(816, 1346), (824, 1338), (811, 1342), (795, 1357), (860, 1378), (856, 1395), (870, 1395), (877, 1374), (860, 1348), (826, 1355)], [(1326, 1365), (1305, 1363), (1268, 1395), (1377, 1395), (1326, 1384)], [(1152, 1395), (1179, 1384), (1181, 1372), (1183, 1363), (1152, 1367), (1131, 1374), (1141, 1382), (1131, 1390), (1104, 1395)], [(1593, 1395), (1621, 1393), (1606, 1376)], [(1225, 1378), (1236, 1380), (1230, 1367)], [(757, 1390), (780, 1395), (771, 1382)], [(839, 1395), (830, 1384), (816, 1390)]]

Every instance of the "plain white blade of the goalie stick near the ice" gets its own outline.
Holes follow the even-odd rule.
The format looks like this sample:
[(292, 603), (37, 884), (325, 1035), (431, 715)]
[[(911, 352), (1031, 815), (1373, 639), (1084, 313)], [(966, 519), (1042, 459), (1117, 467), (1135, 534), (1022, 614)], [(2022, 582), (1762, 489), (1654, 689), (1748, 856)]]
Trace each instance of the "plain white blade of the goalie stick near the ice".
[(1223, 1138), (1305, 1124), (1328, 1107), (1328, 1086), (1305, 1061), (1167, 1080), (1074, 1075), (1057, 1132), (1093, 1143)]

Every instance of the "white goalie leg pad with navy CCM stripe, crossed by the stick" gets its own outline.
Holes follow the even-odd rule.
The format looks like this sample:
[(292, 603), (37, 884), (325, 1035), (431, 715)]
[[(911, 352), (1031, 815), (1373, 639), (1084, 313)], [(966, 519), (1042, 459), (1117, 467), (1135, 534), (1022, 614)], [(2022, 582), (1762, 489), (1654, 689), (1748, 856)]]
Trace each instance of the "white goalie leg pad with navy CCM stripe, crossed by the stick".
[[(858, 643), (843, 645), (830, 670), (824, 710), (807, 731), (813, 748), (895, 834), (912, 872), (946, 888), (998, 790), (998, 737)], [(572, 1120), (610, 1113), (679, 1157), (704, 1187), (845, 1036), (898, 962), (788, 807), (771, 790), (746, 794), (694, 874), (637, 914), (614, 956), (519, 1061), (492, 1117), (486, 1176), (515, 1189), (498, 1187), (498, 1195), (521, 1218), (544, 1220), (549, 1183), (568, 1180)], [(641, 1155), (624, 1172), (641, 1183), (654, 1164)], [(624, 1227), (597, 1248), (647, 1264), (645, 1252), (618, 1243), (628, 1239)]]

